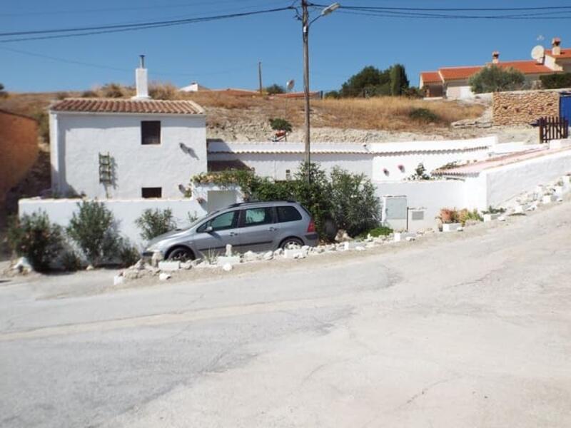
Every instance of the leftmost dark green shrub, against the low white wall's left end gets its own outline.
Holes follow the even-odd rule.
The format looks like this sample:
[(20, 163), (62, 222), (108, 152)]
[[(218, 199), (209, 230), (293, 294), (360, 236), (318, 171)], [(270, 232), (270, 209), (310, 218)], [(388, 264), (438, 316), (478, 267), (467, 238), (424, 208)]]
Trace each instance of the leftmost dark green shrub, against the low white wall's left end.
[(11, 221), (8, 243), (17, 255), (28, 259), (35, 270), (48, 270), (63, 250), (61, 227), (50, 223), (44, 212), (24, 214)]

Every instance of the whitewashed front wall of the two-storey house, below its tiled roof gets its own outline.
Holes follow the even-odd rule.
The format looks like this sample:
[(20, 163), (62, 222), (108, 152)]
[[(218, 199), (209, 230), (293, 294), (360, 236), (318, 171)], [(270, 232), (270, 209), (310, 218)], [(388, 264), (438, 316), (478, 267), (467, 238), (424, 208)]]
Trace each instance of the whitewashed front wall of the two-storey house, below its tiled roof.
[[(161, 144), (141, 145), (141, 121), (161, 121)], [(99, 183), (98, 153), (115, 163), (109, 198), (141, 198), (141, 188), (161, 187), (163, 198), (180, 198), (178, 185), (206, 171), (203, 115), (51, 113), (52, 190), (106, 198)], [(183, 143), (191, 148), (185, 153)]]

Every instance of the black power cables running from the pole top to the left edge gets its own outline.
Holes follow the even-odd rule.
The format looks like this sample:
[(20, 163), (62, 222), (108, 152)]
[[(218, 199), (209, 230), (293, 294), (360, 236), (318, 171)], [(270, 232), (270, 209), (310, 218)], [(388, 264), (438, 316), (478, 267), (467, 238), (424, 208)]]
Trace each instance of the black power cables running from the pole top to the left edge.
[[(216, 15), (216, 16), (203, 16), (199, 18), (187, 18), (187, 19), (173, 19), (170, 21), (149, 21), (138, 24), (113, 24), (113, 25), (102, 25), (102, 26), (89, 26), (89, 27), (76, 27), (67, 29), (49, 29), (49, 30), (33, 30), (33, 31), (13, 31), (8, 33), (0, 33), (0, 37), (6, 36), (26, 36), (38, 34), (39, 36), (32, 37), (19, 37), (15, 39), (4, 39), (0, 40), (0, 43), (7, 43), (12, 41), (29, 41), (29, 40), (44, 40), (44, 39), (64, 39), (68, 37), (75, 36), (89, 36), (92, 34), (106, 34), (106, 33), (117, 33), (123, 31), (136, 31), (140, 29), (153, 29), (161, 28), (166, 26), (178, 26), (185, 24), (196, 24), (206, 21), (218, 21), (221, 19), (232, 19), (239, 18), (243, 16), (253, 16), (260, 14), (271, 14), (278, 11), (286, 11), (293, 9), (291, 6), (274, 8), (274, 9), (263, 9), (260, 11), (248, 11), (238, 14), (226, 14), (226, 15)], [(65, 34), (61, 34), (65, 33)], [(44, 36), (44, 34), (55, 34), (53, 36)]]

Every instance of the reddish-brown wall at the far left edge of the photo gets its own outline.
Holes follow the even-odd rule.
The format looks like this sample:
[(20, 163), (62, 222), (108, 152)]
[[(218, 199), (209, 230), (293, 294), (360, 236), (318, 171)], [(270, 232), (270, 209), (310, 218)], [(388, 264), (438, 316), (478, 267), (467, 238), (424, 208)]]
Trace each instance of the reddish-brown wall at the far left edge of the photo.
[(0, 111), (0, 153), (0, 205), (4, 205), (6, 192), (26, 176), (38, 157), (37, 122)]

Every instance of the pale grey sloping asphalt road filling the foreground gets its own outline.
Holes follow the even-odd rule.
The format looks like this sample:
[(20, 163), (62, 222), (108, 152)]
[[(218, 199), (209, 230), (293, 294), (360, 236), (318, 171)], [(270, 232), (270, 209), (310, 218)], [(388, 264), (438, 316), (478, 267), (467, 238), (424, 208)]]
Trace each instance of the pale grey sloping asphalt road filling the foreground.
[(0, 426), (571, 426), (570, 214), (114, 292), (1, 282)]

